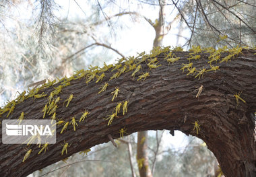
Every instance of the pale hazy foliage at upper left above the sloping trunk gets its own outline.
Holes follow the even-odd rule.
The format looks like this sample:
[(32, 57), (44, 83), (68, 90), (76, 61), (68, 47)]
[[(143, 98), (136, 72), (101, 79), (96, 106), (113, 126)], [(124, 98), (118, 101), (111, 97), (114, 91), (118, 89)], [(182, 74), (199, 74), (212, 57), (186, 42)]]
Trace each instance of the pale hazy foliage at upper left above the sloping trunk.
[[(13, 99), (16, 90), (25, 90), (30, 83), (71, 75), (75, 70), (100, 65), (102, 60), (109, 59), (110, 55), (102, 48), (98, 51), (104, 58), (92, 51), (88, 55), (86, 48), (82, 50), (94, 42), (88, 32), (93, 33), (102, 23), (87, 26), (81, 19), (57, 18), (59, 7), (54, 1), (45, 0), (44, 11), (39, 1), (34, 5), (15, 2), (21, 7), (20, 13), (26, 11), (24, 16), (18, 15), (17, 7), (5, 3), (1, 5), (6, 7), (0, 8), (0, 42), (3, 44), (0, 46), (0, 105), (7, 98)], [(89, 15), (86, 21), (93, 23), (92, 19), (95, 22), (98, 17)]]

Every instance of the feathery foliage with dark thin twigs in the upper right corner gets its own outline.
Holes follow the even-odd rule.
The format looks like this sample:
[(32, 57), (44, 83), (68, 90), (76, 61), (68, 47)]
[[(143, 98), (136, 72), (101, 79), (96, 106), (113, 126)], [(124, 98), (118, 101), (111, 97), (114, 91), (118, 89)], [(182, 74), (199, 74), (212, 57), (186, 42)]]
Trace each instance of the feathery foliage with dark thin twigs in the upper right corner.
[(182, 3), (183, 10), (189, 14), (187, 22), (189, 24), (195, 22), (191, 44), (216, 48), (226, 44), (229, 46), (256, 44), (256, 28), (253, 25), (256, 23), (255, 1), (249, 0), (246, 3), (234, 0), (200, 1), (198, 6), (187, 1)]

